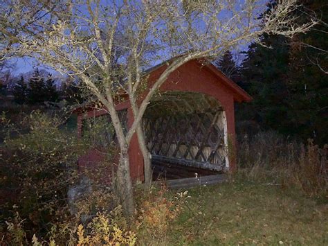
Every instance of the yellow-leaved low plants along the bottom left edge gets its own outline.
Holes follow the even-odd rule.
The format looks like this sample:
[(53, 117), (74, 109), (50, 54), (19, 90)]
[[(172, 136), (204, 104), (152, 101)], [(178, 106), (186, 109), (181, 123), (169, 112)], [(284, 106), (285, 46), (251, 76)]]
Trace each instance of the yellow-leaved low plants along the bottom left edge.
[[(111, 213), (97, 213), (86, 225), (75, 224), (66, 221), (62, 224), (53, 225), (49, 232), (48, 240), (40, 240), (33, 234), (32, 240), (26, 238), (26, 233), (17, 213), (13, 222), (7, 222), (7, 238), (2, 238), (0, 243), (10, 242), (16, 245), (31, 243), (35, 246), (47, 245), (135, 245), (136, 234), (133, 231), (122, 229), (116, 224), (117, 214), (121, 214), (121, 209), (117, 208)], [(122, 216), (121, 216), (122, 217)], [(6, 240), (4, 240), (6, 239)]]

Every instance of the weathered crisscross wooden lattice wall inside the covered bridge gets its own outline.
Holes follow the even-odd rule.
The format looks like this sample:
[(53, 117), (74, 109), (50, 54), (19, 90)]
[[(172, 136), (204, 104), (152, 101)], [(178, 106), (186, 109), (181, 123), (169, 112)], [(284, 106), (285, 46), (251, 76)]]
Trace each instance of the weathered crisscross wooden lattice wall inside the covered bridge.
[(152, 158), (222, 170), (225, 166), (223, 112), (144, 118)]

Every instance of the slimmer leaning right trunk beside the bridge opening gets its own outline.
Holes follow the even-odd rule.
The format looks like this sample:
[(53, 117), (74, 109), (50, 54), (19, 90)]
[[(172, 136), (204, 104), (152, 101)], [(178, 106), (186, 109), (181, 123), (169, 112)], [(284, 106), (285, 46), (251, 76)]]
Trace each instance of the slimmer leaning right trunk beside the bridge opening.
[(141, 124), (138, 125), (136, 130), (138, 136), (138, 143), (141, 152), (143, 153), (143, 168), (145, 174), (145, 188), (149, 188), (152, 182), (152, 160), (151, 155), (147, 149), (147, 143), (145, 141), (145, 135), (143, 134), (143, 128)]

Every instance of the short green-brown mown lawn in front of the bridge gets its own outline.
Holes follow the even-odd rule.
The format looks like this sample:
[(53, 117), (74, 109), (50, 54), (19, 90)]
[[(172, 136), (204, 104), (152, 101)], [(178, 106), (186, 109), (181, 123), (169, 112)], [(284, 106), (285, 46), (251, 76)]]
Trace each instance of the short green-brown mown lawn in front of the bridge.
[(327, 197), (252, 182), (202, 186), (188, 194), (167, 245), (328, 245)]

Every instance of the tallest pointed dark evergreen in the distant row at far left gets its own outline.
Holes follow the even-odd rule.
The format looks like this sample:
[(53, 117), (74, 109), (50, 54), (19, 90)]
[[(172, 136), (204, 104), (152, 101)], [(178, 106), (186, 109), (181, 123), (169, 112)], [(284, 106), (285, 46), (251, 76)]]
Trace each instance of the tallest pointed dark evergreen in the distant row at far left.
[(35, 69), (29, 82), (28, 103), (42, 103), (44, 100), (46, 100), (44, 78), (39, 72), (39, 69)]

